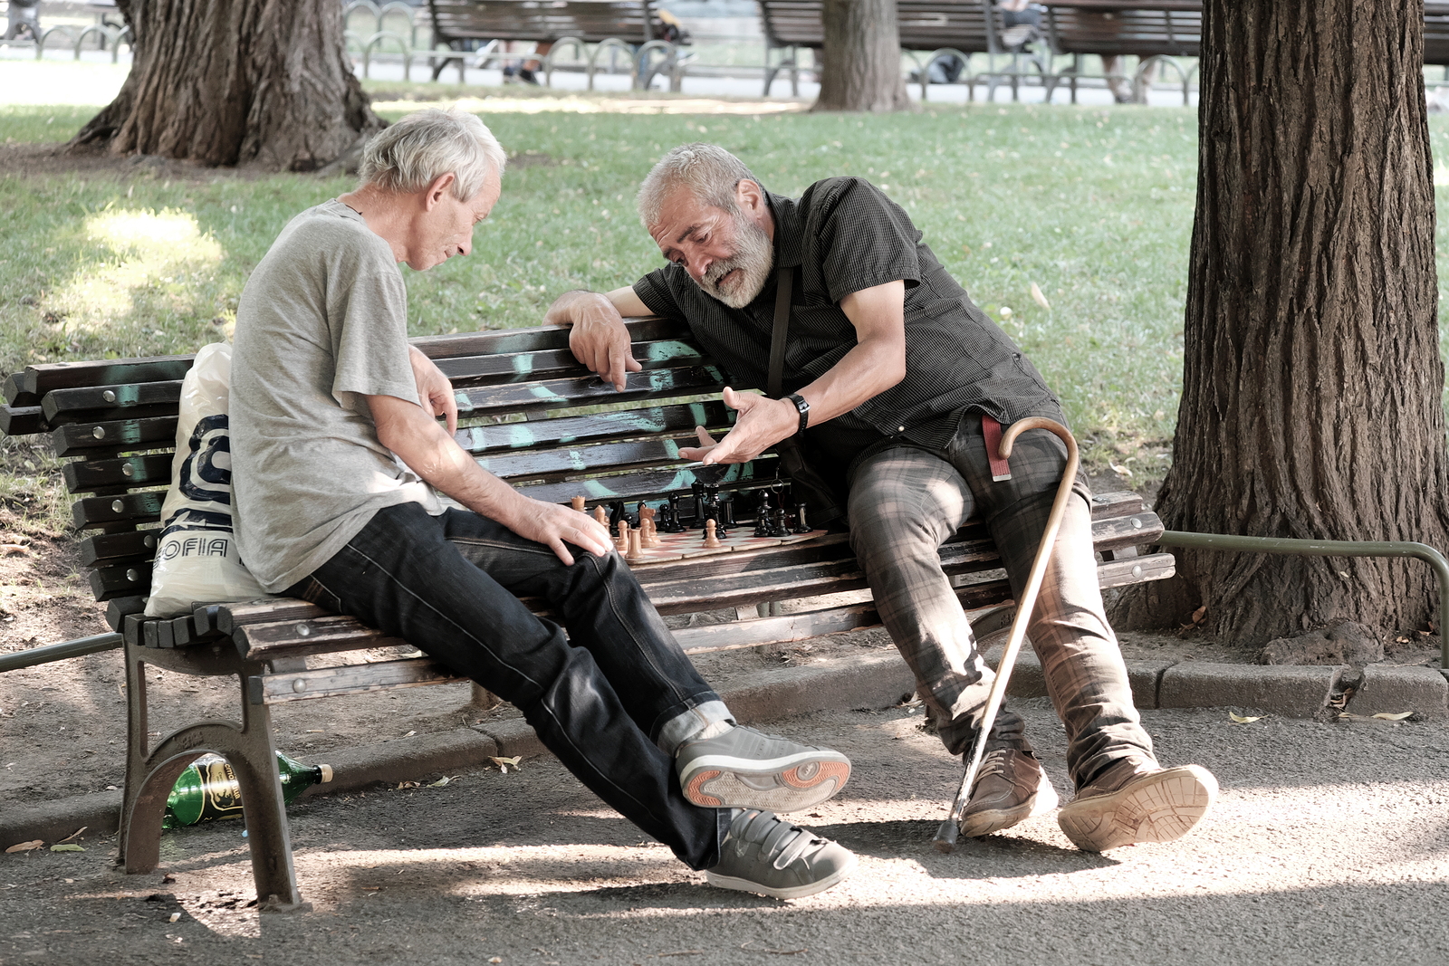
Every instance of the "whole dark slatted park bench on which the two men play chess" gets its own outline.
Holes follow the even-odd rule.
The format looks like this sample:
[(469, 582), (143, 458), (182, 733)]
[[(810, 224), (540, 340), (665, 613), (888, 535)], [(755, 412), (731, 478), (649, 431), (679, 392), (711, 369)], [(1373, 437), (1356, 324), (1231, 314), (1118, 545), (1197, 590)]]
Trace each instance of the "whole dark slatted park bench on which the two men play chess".
[[(730, 411), (710, 401), (717, 400), (723, 374), (680, 326), (661, 319), (627, 324), (643, 371), (629, 377), (625, 392), (574, 361), (564, 327), (422, 337), (413, 345), (454, 379), (462, 417), (458, 442), (520, 491), (558, 503), (584, 495), (590, 508), (672, 494), (688, 511), (696, 471), (680, 458), (678, 446), (693, 442), (697, 424), (729, 427)], [(297, 600), (197, 601), (194, 611), (181, 617), (142, 616), (161, 501), (171, 482), (181, 378), (190, 365), (191, 356), (164, 356), (29, 366), (4, 382), (9, 406), (0, 408), (0, 430), (46, 433), (57, 455), (70, 461), (64, 478), (78, 497), (72, 513), (84, 534), (81, 559), (96, 598), (107, 604), (106, 620), (125, 637), (120, 862), (128, 872), (158, 865), (168, 791), (185, 765), (203, 752), (216, 752), (227, 757), (241, 784), (258, 898), (285, 908), (300, 902), (300, 895), (270, 710), (290, 701), (456, 678), (430, 658), (345, 663), (346, 652), (404, 642)], [(752, 492), (781, 485), (771, 456), (727, 468), (714, 482), (743, 505)], [(1137, 555), (1139, 546), (1161, 534), (1162, 524), (1136, 494), (1095, 497), (1093, 517), (1103, 587), (1172, 575), (1171, 555)], [(981, 524), (964, 527), (940, 553), (968, 610), (1009, 601), (1006, 579), (991, 572), (998, 568), (997, 552)], [(735, 620), (677, 630), (691, 653), (778, 644), (880, 623), (868, 595), (858, 595), (859, 602), (817, 600), (865, 588), (845, 533), (646, 563), (636, 566), (636, 574), (662, 614), (714, 611), (719, 617), (719, 611), (736, 608)], [(782, 604), (794, 613), (785, 613)], [(361, 658), (352, 655), (352, 660)], [(152, 743), (148, 665), (235, 678), (236, 720), (193, 721)]]

